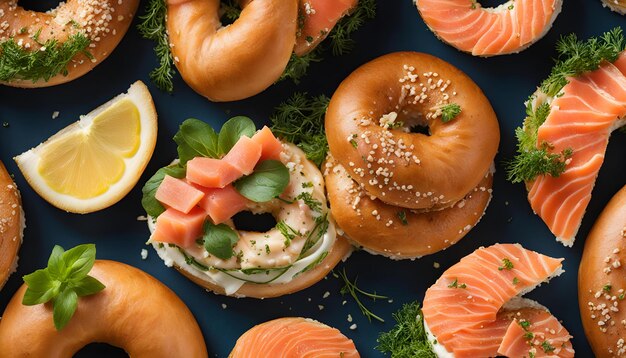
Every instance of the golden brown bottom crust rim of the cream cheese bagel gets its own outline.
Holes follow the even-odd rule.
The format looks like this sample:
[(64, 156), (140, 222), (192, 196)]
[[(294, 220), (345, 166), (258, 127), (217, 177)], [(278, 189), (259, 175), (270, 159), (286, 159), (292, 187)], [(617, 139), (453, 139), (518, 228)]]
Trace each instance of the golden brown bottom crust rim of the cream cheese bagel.
[[(296, 278), (289, 281), (288, 283), (270, 283), (264, 285), (246, 283), (241, 286), (239, 290), (237, 290), (235, 296), (252, 298), (272, 298), (304, 290), (305, 288), (314, 285), (315, 283), (323, 279), (326, 275), (328, 275), (328, 273), (335, 266), (337, 266), (339, 261), (345, 259), (352, 252), (352, 249), (352, 245), (350, 245), (350, 243), (348, 243), (345, 238), (337, 236), (335, 245), (332, 247), (332, 250), (328, 252), (326, 258), (324, 258), (324, 260), (315, 268), (296, 276)], [(177, 265), (175, 265), (174, 267), (180, 273), (185, 275), (188, 279), (206, 288), (207, 290), (213, 291), (220, 295), (226, 294), (224, 292), (224, 288), (222, 288), (221, 286), (202, 280)]]

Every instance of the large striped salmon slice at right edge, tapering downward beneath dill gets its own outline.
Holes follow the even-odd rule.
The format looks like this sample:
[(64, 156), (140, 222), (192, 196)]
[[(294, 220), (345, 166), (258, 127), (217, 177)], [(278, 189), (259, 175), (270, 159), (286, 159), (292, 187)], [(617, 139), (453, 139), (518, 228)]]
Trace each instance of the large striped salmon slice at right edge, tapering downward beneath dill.
[(537, 145), (571, 150), (565, 171), (527, 183), (528, 201), (557, 240), (572, 246), (604, 162), (611, 132), (626, 121), (626, 55), (592, 72), (568, 78), (537, 132)]

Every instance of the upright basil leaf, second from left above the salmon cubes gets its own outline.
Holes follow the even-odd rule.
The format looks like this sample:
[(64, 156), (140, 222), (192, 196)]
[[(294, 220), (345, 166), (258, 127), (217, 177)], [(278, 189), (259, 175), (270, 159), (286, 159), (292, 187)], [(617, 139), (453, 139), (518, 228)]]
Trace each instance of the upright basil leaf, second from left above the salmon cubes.
[(178, 144), (178, 159), (182, 166), (195, 157), (219, 157), (217, 133), (201, 120), (190, 118), (184, 121), (174, 136), (174, 142)]

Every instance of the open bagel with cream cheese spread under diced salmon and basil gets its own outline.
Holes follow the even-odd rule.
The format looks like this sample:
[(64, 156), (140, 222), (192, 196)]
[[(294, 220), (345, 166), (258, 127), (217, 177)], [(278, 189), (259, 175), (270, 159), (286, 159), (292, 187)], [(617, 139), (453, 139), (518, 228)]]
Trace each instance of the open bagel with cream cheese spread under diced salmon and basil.
[[(352, 246), (337, 237), (334, 222), (327, 215), (324, 179), (319, 169), (293, 144), (283, 144), (280, 161), (290, 170), (290, 181), (281, 197), (294, 200), (247, 202), (243, 210), (270, 213), (276, 222), (282, 222), (289, 227), (288, 230), (300, 234), (287, 242), (278, 227), (267, 232), (237, 230), (238, 241), (233, 251), (238, 255), (223, 260), (208, 254), (202, 245), (165, 244), (158, 238), (160, 235), (155, 235), (159, 222), (150, 218), (148, 226), (153, 235), (149, 242), (165, 264), (174, 266), (196, 284), (218, 294), (270, 298), (313, 285), (340, 260), (346, 259)], [(311, 200), (319, 203), (320, 213), (303, 200), (296, 199), (302, 193), (310, 194)], [(232, 220), (225, 223), (237, 229)], [(165, 235), (174, 234), (166, 232)], [(315, 244), (305, 250), (309, 237)]]

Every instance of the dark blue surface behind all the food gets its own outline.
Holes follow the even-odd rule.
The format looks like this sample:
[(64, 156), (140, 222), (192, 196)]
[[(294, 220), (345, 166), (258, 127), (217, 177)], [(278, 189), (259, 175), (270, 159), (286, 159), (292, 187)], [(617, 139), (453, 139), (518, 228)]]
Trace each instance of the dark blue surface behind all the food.
[[(492, 0), (484, 4), (495, 3), (497, 1)], [(21, 284), (22, 275), (45, 265), (53, 245), (69, 248), (92, 242), (97, 244), (99, 258), (139, 267), (172, 288), (198, 319), (211, 356), (226, 357), (237, 337), (255, 324), (282, 316), (305, 316), (340, 329), (354, 339), (363, 357), (378, 357), (381, 355), (374, 350), (376, 337), (380, 331), (393, 326), (391, 313), (405, 302), (421, 300), (426, 288), (443, 270), (481, 245), (519, 242), (526, 248), (565, 258), (565, 274), (536, 289), (529, 297), (546, 305), (563, 320), (574, 335), (574, 347), (579, 356), (591, 356), (578, 312), (577, 269), (584, 238), (591, 225), (611, 196), (624, 184), (625, 135), (615, 134), (609, 145), (588, 213), (578, 240), (571, 249), (557, 243), (541, 219), (533, 215), (523, 185), (512, 185), (504, 180), (502, 162), (514, 153), (513, 131), (524, 117), (523, 102), (549, 73), (557, 39), (570, 32), (576, 32), (581, 37), (598, 35), (614, 26), (626, 24), (625, 18), (602, 8), (599, 0), (565, 0), (563, 12), (540, 42), (518, 55), (484, 59), (460, 53), (437, 40), (424, 25), (412, 1), (378, 1), (378, 6), (376, 20), (357, 34), (357, 46), (351, 54), (339, 58), (329, 54), (324, 62), (311, 67), (308, 77), (300, 85), (283, 82), (241, 102), (210, 103), (180, 79), (175, 83), (174, 95), (157, 90), (147, 76), (156, 64), (153, 44), (141, 39), (134, 27), (109, 59), (78, 80), (60, 87), (36, 90), (0, 87), (0, 123), (10, 124), (8, 128), (0, 127), (0, 160), (15, 174), (27, 218), (19, 270), (0, 293), (0, 309), (4, 309)], [(208, 293), (175, 270), (166, 268), (153, 250), (144, 245), (148, 229), (145, 222), (136, 220), (137, 216), (144, 214), (140, 204), (141, 186), (157, 168), (175, 156), (175, 144), (171, 138), (184, 119), (196, 117), (219, 127), (230, 115), (247, 115), (260, 125), (267, 122), (273, 107), (292, 92), (332, 95), (340, 81), (359, 65), (399, 50), (431, 53), (467, 72), (491, 100), (500, 120), (502, 142), (496, 159), (498, 172), (493, 201), (478, 227), (459, 244), (417, 261), (394, 262), (357, 252), (344, 265), (349, 276), (359, 276), (363, 289), (375, 290), (393, 298), (392, 303), (366, 302), (386, 319), (384, 324), (369, 323), (352, 299), (341, 297), (341, 283), (332, 276), (310, 289), (282, 298), (262, 301), (228, 298)], [(118, 204), (89, 215), (64, 213), (46, 203), (25, 182), (12, 157), (76, 121), (80, 114), (88, 113), (114, 95), (124, 92), (137, 79), (150, 86), (159, 113), (157, 148), (139, 185)], [(59, 118), (51, 119), (54, 111), (60, 111)], [(143, 248), (149, 250), (145, 261), (140, 258)], [(433, 268), (434, 262), (439, 262), (441, 268)], [(326, 291), (330, 292), (330, 297), (323, 299)], [(342, 305), (344, 299), (348, 302)], [(223, 309), (222, 304), (226, 304), (227, 308)], [(318, 305), (325, 308), (320, 311)], [(348, 328), (351, 325), (346, 320), (348, 314), (358, 325), (355, 331)], [(122, 355), (119, 350), (103, 345), (82, 351), (87, 352), (92, 357), (113, 353)]]

